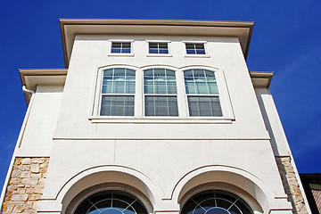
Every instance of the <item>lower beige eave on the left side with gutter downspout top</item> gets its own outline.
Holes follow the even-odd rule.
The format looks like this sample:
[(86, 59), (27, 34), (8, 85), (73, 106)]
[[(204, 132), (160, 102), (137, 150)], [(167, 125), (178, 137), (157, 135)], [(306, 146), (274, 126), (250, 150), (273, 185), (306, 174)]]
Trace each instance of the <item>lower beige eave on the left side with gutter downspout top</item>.
[[(32, 91), (36, 91), (37, 85), (64, 85), (67, 71), (67, 69), (19, 70), (22, 86)], [(25, 94), (25, 97), (29, 104), (31, 96)]]

